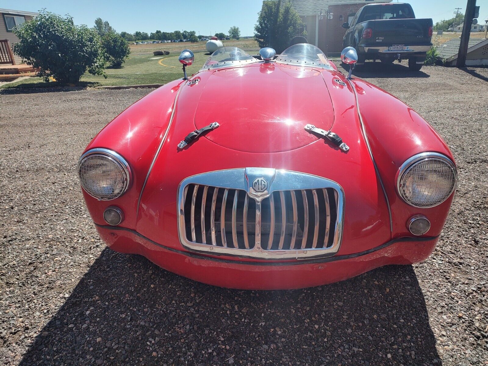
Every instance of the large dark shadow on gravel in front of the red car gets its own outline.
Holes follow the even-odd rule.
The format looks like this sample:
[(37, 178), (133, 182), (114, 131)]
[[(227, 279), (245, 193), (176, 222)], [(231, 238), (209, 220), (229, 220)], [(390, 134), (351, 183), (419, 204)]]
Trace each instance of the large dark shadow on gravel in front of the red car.
[(411, 266), (309, 289), (242, 291), (203, 285), (110, 249), (20, 365), (241, 362), (441, 365)]

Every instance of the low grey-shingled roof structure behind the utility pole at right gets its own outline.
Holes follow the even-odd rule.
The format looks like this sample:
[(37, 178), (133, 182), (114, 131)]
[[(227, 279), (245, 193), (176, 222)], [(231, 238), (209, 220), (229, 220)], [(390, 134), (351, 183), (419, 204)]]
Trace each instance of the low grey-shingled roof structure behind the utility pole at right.
[[(441, 44), (437, 51), (439, 52), (438, 59), (444, 61), (446, 66), (455, 66), (459, 44), (461, 40), (455, 38)], [(470, 39), (468, 42), (468, 54), (466, 56), (466, 66), (481, 66), (488, 65), (488, 39)]]

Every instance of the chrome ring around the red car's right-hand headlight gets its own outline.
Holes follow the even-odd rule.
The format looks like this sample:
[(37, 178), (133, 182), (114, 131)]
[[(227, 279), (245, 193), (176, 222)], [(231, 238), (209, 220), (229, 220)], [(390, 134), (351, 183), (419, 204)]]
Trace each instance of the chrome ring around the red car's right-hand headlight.
[[(402, 189), (402, 181), (403, 178), (406, 176), (406, 174), (417, 164), (423, 163), (425, 161), (440, 161), (442, 163), (446, 163), (447, 166), (451, 169), (454, 181), (452, 183), (452, 188), (450, 189), (449, 193), (439, 202), (433, 203), (433, 204), (415, 204), (412, 202), (408, 197), (406, 197), (405, 192)], [(411, 158), (407, 159), (405, 163), (402, 164), (400, 167), (398, 174), (397, 174), (397, 183), (396, 183), (396, 189), (397, 193), (400, 196), (400, 198), (409, 204), (410, 206), (417, 207), (417, 208), (431, 208), (438, 206), (439, 204), (445, 202), (454, 192), (456, 189), (456, 184), (457, 184), (457, 171), (456, 171), (456, 166), (454, 165), (454, 162), (450, 160), (446, 155), (436, 153), (436, 152), (423, 152), (417, 155), (412, 156)]]

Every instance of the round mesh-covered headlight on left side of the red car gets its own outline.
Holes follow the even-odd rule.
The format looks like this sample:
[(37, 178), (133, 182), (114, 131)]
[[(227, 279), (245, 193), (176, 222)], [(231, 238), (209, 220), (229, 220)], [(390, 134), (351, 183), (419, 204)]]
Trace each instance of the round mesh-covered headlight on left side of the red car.
[(116, 199), (129, 188), (129, 164), (112, 150), (97, 148), (84, 153), (78, 175), (86, 193), (98, 200)]

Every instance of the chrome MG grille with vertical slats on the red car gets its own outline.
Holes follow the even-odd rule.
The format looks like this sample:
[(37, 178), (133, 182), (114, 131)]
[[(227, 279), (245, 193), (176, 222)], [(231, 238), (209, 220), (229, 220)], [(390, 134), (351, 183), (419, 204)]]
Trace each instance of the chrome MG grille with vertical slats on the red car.
[[(273, 185), (281, 188), (287, 184), (287, 171), (279, 171), (280, 174), (271, 178), (273, 184), (269, 192), (254, 197), (248, 189), (237, 188), (244, 184), (234, 181), (228, 184), (232, 187), (219, 187), (204, 184), (212, 179), (201, 179), (238, 170), (242, 171), (244, 180), (247, 169), (204, 173), (183, 181), (179, 217), (180, 239), (184, 246), (197, 251), (213, 250), (214, 253), (256, 258), (299, 258), (337, 252), (343, 211), (342, 189), (337, 183), (288, 172), (291, 178), (297, 178), (296, 175), (301, 178), (292, 179), (290, 188), (305, 185), (308, 189), (273, 190)], [(277, 177), (282, 182), (278, 182)], [(306, 187), (307, 177), (322, 184), (313, 182), (311, 187)]]

